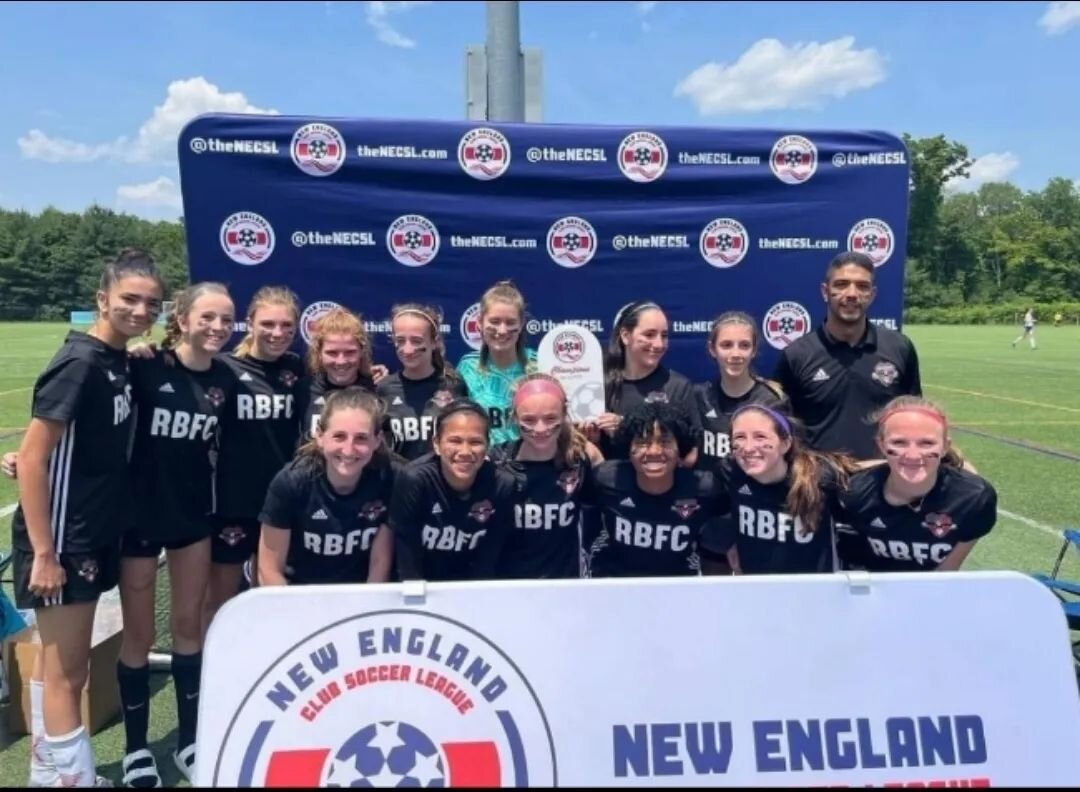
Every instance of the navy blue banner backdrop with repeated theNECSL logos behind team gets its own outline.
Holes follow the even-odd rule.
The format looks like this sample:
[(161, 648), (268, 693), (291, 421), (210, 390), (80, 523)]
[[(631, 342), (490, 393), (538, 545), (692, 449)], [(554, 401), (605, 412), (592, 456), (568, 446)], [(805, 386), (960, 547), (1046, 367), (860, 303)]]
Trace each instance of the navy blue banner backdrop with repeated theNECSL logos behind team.
[(329, 304), (355, 310), (391, 370), (394, 303), (441, 307), (457, 362), (501, 279), (530, 346), (564, 321), (606, 345), (621, 306), (658, 303), (664, 362), (694, 380), (716, 375), (704, 339), (730, 309), (755, 318), (768, 374), (824, 318), (845, 250), (877, 265), (872, 319), (903, 314), (909, 165), (882, 132), (212, 115), (179, 164), (193, 280), (226, 282), (241, 314), (291, 287), (303, 339)]

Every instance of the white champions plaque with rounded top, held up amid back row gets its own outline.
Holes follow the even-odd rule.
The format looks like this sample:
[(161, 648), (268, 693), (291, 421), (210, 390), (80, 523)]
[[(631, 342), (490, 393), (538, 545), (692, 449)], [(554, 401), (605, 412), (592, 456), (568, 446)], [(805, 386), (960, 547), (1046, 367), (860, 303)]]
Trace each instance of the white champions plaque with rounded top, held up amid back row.
[(562, 384), (570, 420), (604, 414), (604, 350), (592, 331), (579, 324), (552, 327), (537, 348), (537, 368)]

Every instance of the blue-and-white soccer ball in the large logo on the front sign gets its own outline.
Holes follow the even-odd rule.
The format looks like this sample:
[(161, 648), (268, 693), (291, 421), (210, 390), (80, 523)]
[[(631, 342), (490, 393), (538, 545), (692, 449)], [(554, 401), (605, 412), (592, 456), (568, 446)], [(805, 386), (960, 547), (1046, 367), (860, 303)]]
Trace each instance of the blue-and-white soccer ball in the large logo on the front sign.
[(356, 731), (326, 764), (325, 787), (446, 787), (446, 764), (428, 735), (400, 721)]

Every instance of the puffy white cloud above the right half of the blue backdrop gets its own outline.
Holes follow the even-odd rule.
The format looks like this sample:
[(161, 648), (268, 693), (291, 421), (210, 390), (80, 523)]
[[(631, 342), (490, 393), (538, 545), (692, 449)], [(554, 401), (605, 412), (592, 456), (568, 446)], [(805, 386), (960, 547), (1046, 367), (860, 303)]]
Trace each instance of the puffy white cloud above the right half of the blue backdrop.
[(733, 64), (699, 66), (675, 86), (702, 116), (816, 108), (885, 80), (885, 62), (876, 50), (854, 49), (853, 36), (824, 44), (785, 46), (760, 39)]

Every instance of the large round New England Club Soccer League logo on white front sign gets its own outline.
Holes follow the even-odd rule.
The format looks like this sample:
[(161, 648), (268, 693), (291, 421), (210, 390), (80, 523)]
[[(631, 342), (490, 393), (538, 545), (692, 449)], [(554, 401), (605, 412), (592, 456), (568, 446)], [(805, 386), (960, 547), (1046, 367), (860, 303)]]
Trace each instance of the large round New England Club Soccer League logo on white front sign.
[(394, 609), (322, 628), (259, 676), (211, 775), (237, 787), (555, 786), (546, 716), (472, 628)]

